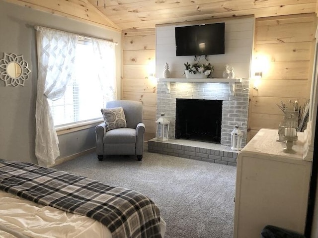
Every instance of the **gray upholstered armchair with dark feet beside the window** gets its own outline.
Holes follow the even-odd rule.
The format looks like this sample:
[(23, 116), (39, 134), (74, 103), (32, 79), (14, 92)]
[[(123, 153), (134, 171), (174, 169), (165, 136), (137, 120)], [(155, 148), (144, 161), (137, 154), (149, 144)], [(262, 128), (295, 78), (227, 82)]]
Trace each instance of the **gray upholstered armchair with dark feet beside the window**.
[(141, 102), (118, 100), (107, 102), (106, 108), (122, 107), (127, 128), (106, 131), (105, 122), (95, 127), (96, 153), (99, 161), (104, 155), (137, 155), (143, 159), (145, 124), (143, 123), (143, 106)]

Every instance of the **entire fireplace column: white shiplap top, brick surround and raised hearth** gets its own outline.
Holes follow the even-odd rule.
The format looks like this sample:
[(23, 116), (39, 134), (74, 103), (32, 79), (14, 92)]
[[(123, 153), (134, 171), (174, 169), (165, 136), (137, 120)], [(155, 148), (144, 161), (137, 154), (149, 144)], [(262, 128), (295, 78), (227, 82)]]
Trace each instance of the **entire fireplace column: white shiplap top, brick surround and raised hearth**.
[[(225, 22), (225, 54), (210, 55), (205, 58), (198, 57), (197, 59), (193, 56), (179, 57), (175, 53), (175, 27), (193, 25), (191, 22), (156, 26), (156, 75), (158, 77), (163, 75), (163, 65), (168, 63), (170, 65), (170, 79), (172, 80), (167, 82), (165, 79), (158, 79), (156, 119), (159, 118), (160, 113), (165, 113), (166, 119), (170, 121), (170, 130), (167, 142), (159, 142), (156, 138), (149, 140), (149, 151), (215, 163), (235, 164), (237, 151), (231, 150), (231, 131), (235, 125), (239, 125), (243, 132), (243, 146), (246, 144), (249, 77), (255, 18), (246, 16), (211, 19), (211, 21), (202, 21), (202, 24), (215, 22)], [(186, 81), (184, 63), (194, 61), (210, 62), (214, 66), (213, 77), (215, 79), (201, 82)], [(235, 90), (232, 90), (233, 84), (231, 83), (222, 82), (222, 80), (216, 82), (217, 78), (222, 78), (226, 64), (235, 68), (236, 77), (242, 78), (242, 82), (235, 82)], [(219, 144), (175, 139), (177, 98), (222, 101)]]

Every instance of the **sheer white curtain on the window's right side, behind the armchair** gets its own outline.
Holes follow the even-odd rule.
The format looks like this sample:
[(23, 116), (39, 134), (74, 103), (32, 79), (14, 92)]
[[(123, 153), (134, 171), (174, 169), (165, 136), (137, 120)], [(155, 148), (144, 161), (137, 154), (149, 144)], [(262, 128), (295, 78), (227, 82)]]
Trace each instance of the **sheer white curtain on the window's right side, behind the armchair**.
[(105, 101), (117, 99), (115, 45), (92, 38), (96, 70)]

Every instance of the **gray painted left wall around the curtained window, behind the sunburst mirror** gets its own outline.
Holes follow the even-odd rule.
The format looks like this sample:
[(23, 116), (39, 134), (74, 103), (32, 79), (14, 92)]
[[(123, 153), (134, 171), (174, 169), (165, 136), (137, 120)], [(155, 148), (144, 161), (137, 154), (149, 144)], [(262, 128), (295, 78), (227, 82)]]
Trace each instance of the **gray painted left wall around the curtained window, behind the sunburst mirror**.
[[(3, 53), (23, 55), (32, 70), (24, 87), (5, 87), (4, 82), (0, 80), (0, 158), (37, 163), (34, 150), (38, 69), (33, 25), (77, 32), (97, 38), (113, 38), (114, 41), (119, 42), (116, 46), (118, 78), (121, 74), (121, 34), (0, 0), (0, 59)], [(118, 83), (120, 97), (120, 81)], [(59, 142), (60, 158), (94, 148), (94, 127), (59, 135)]]

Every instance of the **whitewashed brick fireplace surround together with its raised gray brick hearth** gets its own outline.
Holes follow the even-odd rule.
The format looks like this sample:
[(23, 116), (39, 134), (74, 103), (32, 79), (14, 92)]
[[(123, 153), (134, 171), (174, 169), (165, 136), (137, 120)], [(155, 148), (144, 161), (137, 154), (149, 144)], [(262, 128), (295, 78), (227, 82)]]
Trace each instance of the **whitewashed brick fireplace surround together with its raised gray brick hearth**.
[[(213, 79), (211, 79), (213, 82)], [(158, 81), (157, 118), (165, 113), (170, 121), (169, 140), (158, 142), (156, 138), (148, 141), (150, 152), (170, 154), (190, 159), (215, 163), (236, 164), (238, 151), (231, 150), (231, 131), (235, 125), (243, 132), (246, 144), (249, 80), (235, 83), (235, 95), (231, 96), (228, 83), (178, 83)], [(222, 100), (221, 143), (208, 143), (175, 139), (176, 99)], [(207, 108), (206, 110), (213, 110)], [(206, 121), (204, 121), (206, 123)], [(198, 123), (200, 119), (198, 119)]]

